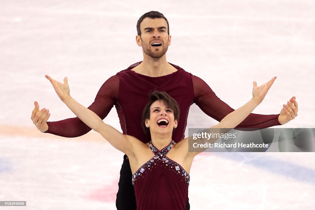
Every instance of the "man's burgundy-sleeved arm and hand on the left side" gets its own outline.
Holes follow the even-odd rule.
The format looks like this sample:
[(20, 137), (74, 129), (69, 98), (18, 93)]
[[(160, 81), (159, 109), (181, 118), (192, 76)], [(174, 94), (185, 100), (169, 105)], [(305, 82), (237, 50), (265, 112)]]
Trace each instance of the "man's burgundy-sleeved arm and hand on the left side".
[[(101, 119), (104, 119), (116, 102), (118, 90), (119, 78), (115, 75), (102, 85), (95, 97), (95, 101), (88, 108)], [(77, 117), (46, 123), (48, 118), (43, 117), (45, 110), (39, 110), (39, 106), (36, 107), (36, 105), (33, 109), (31, 120), (41, 132), (51, 133), (62, 137), (78, 137), (92, 130)]]

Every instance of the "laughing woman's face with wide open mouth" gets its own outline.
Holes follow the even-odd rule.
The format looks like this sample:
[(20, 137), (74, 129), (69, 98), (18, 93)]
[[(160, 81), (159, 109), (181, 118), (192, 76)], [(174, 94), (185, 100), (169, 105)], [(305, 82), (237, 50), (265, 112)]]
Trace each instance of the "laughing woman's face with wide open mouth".
[(172, 133), (177, 120), (174, 120), (173, 110), (157, 100), (150, 106), (150, 119), (146, 120), (146, 126), (150, 127), (151, 133)]

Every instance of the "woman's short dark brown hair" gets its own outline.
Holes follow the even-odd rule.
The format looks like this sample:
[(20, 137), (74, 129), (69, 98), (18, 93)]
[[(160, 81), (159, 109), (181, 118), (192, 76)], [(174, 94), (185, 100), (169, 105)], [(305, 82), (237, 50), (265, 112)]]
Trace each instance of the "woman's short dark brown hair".
[[(146, 104), (142, 112), (142, 128), (146, 135), (150, 136), (150, 128), (146, 127), (146, 120), (150, 119), (150, 107), (152, 103), (156, 102), (157, 100), (161, 100), (164, 102), (165, 106), (170, 108), (174, 114), (174, 120), (179, 120), (179, 106), (178, 103), (175, 101), (174, 98), (169, 96), (166, 92), (162, 91), (153, 91), (149, 95), (150, 102)], [(173, 129), (174, 130), (174, 129)]]

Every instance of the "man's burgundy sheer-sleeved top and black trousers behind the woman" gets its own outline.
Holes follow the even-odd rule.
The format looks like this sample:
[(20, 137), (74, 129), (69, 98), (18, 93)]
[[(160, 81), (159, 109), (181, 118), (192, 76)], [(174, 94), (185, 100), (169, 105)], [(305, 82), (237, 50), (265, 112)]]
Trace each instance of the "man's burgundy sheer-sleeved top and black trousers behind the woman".
[[(149, 102), (148, 96), (152, 90), (167, 92), (179, 104), (180, 118), (172, 136), (176, 143), (184, 138), (188, 111), (192, 103), (196, 103), (204, 113), (218, 121), (234, 111), (221, 101), (202, 79), (193, 76), (182, 68), (171, 64), (178, 69), (176, 72), (161, 77), (149, 77), (131, 70), (140, 63), (135, 63), (109, 78), (100, 88), (95, 101), (89, 106), (90, 110), (104, 119), (115, 105), (123, 134), (134, 136), (144, 143), (150, 141), (150, 137), (147, 137), (142, 130), (141, 114)], [(250, 114), (238, 125), (238, 128), (266, 128), (280, 125), (278, 116), (279, 114)], [(47, 123), (49, 126), (47, 133), (63, 137), (78, 137), (91, 130), (77, 117)], [(135, 198), (132, 195), (131, 175), (130, 166), (128, 162), (124, 161), (117, 194), (118, 209), (135, 209), (129, 208), (130, 202), (135, 204)], [(126, 189), (123, 189), (121, 193), (128, 194), (129, 192), (129, 195), (120, 198), (119, 191), (124, 187)], [(133, 201), (125, 202), (130, 196), (133, 196)], [(119, 199), (123, 200), (122, 204), (118, 201)], [(128, 208), (119, 207), (123, 203), (128, 203)]]

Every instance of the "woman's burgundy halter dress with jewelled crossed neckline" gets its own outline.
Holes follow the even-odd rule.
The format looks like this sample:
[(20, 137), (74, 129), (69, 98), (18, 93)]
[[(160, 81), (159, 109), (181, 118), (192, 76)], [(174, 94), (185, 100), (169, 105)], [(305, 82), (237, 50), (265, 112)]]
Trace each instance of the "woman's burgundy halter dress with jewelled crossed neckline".
[(132, 176), (137, 210), (185, 210), (190, 176), (166, 156), (174, 141), (162, 150), (151, 141), (149, 146), (155, 156)]

